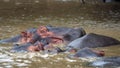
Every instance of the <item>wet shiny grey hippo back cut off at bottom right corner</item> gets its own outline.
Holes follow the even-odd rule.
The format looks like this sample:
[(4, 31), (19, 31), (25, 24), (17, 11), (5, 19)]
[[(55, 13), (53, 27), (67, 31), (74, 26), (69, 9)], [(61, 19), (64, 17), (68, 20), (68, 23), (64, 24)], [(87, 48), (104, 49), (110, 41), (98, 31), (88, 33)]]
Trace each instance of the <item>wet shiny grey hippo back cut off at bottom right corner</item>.
[(117, 68), (120, 67), (120, 56), (114, 57), (103, 57), (95, 60), (94, 62), (90, 62), (90, 66), (94, 67), (107, 67), (107, 68)]

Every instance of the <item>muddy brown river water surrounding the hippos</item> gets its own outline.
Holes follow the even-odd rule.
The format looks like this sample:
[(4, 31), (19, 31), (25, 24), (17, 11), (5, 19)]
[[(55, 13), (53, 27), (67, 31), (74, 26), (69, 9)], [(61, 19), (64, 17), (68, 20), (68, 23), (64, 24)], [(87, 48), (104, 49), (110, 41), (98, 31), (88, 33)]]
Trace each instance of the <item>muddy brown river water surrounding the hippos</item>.
[[(78, 0), (28, 1), (0, 0), (0, 39), (39, 25), (53, 25), (82, 27), (87, 33), (120, 40), (119, 4), (83, 5)], [(65, 53), (11, 53), (11, 48), (12, 44), (0, 44), (0, 68), (93, 68), (84, 60), (67, 58)], [(120, 56), (119, 45), (95, 49), (105, 51), (105, 56)]]

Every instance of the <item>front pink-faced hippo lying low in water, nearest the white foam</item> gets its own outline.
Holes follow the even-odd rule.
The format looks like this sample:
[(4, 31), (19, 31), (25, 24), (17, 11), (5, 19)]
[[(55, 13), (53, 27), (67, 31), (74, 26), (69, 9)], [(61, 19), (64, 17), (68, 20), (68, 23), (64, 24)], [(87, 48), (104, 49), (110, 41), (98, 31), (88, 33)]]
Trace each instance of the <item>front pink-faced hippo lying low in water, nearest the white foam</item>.
[(14, 44), (14, 47), (11, 49), (11, 52), (37, 52), (43, 51), (45, 53), (60, 53), (63, 52), (59, 47), (53, 47), (49, 45), (49, 42), (45, 39), (37, 41), (34, 44)]

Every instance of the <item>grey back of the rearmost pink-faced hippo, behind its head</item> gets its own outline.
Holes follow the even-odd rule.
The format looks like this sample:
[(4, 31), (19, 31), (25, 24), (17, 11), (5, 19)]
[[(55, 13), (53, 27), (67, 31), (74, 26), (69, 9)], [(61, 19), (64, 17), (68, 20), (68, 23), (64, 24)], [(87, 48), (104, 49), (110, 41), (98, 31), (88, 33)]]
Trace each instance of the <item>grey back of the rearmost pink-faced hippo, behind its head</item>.
[(64, 40), (71, 42), (86, 34), (83, 28), (67, 28), (67, 27), (47, 27), (55, 35), (62, 36)]

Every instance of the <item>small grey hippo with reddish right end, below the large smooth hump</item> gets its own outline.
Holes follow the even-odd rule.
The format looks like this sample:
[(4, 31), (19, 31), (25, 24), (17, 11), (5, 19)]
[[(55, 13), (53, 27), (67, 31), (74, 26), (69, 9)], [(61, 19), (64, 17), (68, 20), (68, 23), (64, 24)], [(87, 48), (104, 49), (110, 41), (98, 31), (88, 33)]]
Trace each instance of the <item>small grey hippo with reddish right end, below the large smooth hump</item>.
[(96, 51), (90, 48), (83, 48), (78, 50), (74, 55), (69, 55), (69, 58), (95, 58), (104, 56), (104, 51)]

